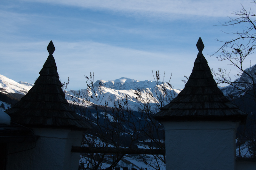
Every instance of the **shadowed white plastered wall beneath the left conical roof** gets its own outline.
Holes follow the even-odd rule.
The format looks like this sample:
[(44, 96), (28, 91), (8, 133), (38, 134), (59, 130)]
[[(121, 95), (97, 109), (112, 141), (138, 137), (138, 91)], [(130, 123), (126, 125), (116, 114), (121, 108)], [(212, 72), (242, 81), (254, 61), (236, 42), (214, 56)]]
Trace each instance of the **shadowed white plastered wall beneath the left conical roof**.
[(81, 146), (81, 131), (66, 129), (38, 129), (34, 128), (36, 136), (40, 136), (36, 143), (11, 143), (7, 156), (7, 170), (72, 170), (78, 169), (80, 153), (71, 152), (72, 146)]

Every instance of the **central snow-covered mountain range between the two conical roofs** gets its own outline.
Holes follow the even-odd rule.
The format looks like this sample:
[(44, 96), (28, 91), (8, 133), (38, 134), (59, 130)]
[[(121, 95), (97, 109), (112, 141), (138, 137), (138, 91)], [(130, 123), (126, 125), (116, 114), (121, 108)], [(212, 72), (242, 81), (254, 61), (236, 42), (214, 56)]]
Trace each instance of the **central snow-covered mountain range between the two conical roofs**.
[[(140, 107), (138, 100), (136, 99), (136, 97), (138, 97), (135, 94), (136, 90), (138, 91), (138, 89), (140, 89), (141, 97), (143, 100), (147, 100), (149, 95), (152, 94), (150, 102), (155, 103), (157, 96), (163, 95), (163, 92), (160, 90), (160, 88), (163, 88), (164, 85), (167, 87), (166, 93), (172, 95), (172, 98), (176, 97), (182, 90), (171, 89), (171, 87), (166, 83), (159, 83), (157, 85), (154, 81), (139, 81), (122, 77), (110, 81), (98, 80), (93, 84), (93, 87), (88, 90), (70, 90), (67, 92), (66, 98), (69, 102), (71, 102), (70, 98), (72, 96), (76, 96), (76, 101), (87, 99), (94, 104), (98, 102), (98, 105), (104, 105), (106, 102), (108, 107), (115, 107), (115, 104), (117, 105), (118, 101), (124, 101), (127, 95), (128, 107), (136, 111), (138, 107)], [(77, 95), (79, 92), (82, 94), (82, 96)], [(78, 99), (78, 96), (80, 99)]]

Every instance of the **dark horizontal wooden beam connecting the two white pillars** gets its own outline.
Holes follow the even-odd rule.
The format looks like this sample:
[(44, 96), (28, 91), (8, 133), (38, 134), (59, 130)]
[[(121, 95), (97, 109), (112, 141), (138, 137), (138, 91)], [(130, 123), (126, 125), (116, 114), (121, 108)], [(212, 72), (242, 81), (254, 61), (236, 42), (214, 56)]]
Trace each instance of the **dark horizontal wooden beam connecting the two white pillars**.
[(71, 152), (165, 155), (165, 149), (139, 149), (139, 148), (134, 149), (134, 148), (107, 148), (107, 147), (80, 147), (80, 146), (72, 146)]

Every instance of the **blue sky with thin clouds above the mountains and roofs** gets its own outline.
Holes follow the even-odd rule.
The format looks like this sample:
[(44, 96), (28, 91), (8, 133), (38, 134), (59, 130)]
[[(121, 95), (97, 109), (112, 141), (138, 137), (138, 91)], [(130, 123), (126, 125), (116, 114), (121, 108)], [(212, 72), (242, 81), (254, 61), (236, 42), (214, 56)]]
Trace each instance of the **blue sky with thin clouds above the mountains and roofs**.
[[(223, 32), (242, 29), (221, 27), (231, 14), (256, 7), (252, 0), (8, 0), (0, 1), (0, 74), (17, 82), (34, 84), (48, 57), (50, 41), (61, 82), (68, 89), (86, 88), (90, 72), (94, 81), (121, 77), (169, 80), (183, 88), (192, 72), (201, 37), (210, 68), (228, 62), (213, 55), (234, 37)], [(245, 67), (256, 64), (253, 57)]]

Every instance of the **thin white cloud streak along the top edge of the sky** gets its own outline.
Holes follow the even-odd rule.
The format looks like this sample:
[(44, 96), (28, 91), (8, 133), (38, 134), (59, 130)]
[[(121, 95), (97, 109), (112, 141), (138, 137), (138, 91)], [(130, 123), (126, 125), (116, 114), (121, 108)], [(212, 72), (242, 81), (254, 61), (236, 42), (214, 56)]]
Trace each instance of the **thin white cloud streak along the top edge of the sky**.
[[(61, 4), (93, 10), (108, 10), (133, 17), (153, 17), (167, 20), (194, 17), (224, 17), (241, 7), (239, 0), (25, 0), (39, 3)], [(244, 0), (243, 4), (248, 4)]]

